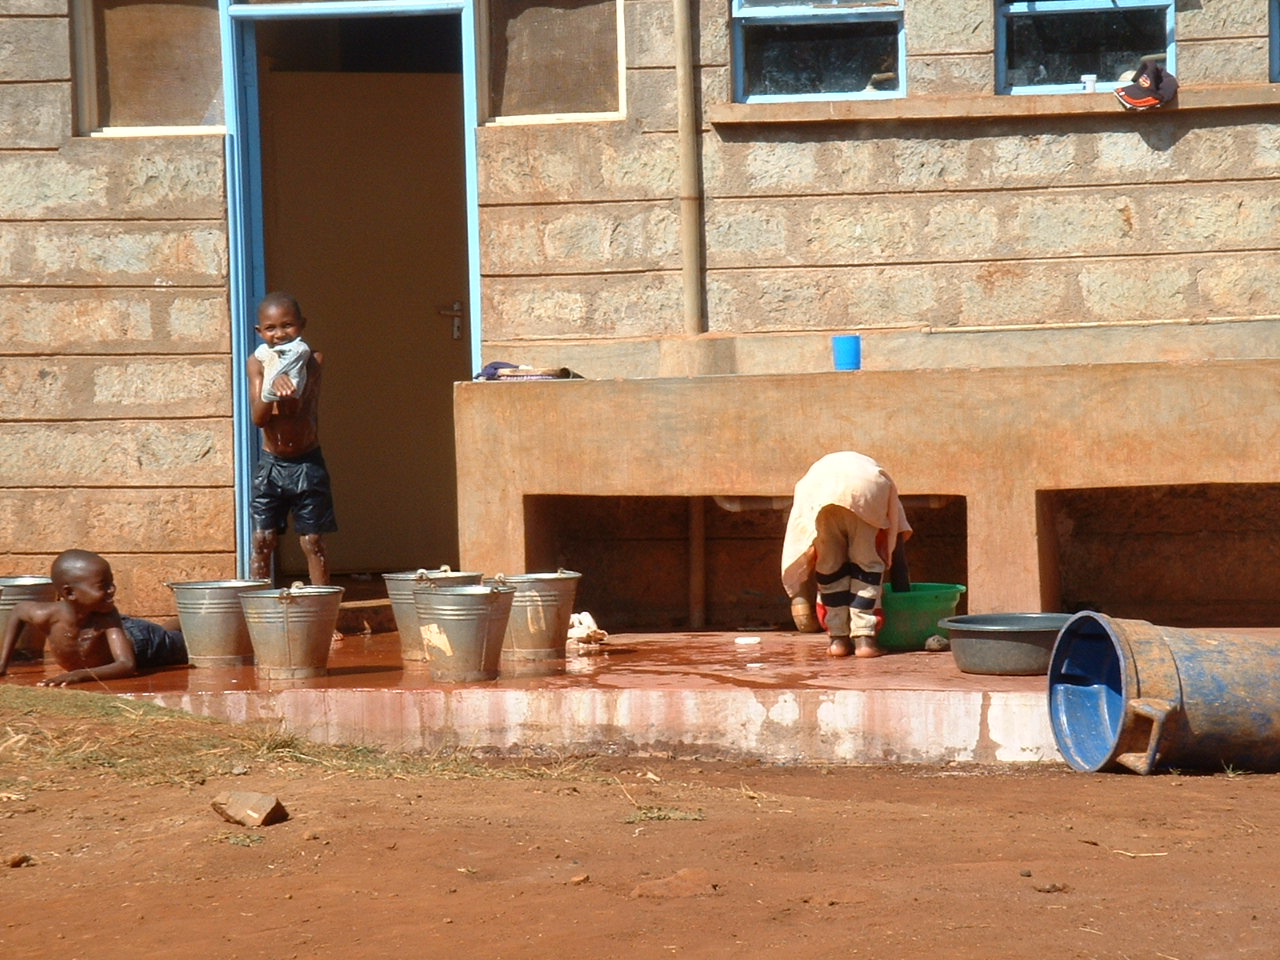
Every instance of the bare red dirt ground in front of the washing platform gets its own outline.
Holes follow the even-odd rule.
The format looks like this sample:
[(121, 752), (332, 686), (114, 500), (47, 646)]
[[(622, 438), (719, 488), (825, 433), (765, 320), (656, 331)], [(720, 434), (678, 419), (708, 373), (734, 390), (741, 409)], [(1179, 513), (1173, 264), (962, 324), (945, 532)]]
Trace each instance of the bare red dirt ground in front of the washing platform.
[[(1274, 776), (630, 758), (367, 778), (266, 755), (131, 780), (83, 728), (63, 759), (24, 749), (76, 723), (0, 710), (4, 956), (1280, 956)], [(223, 790), (291, 818), (225, 823)]]

